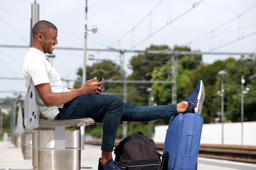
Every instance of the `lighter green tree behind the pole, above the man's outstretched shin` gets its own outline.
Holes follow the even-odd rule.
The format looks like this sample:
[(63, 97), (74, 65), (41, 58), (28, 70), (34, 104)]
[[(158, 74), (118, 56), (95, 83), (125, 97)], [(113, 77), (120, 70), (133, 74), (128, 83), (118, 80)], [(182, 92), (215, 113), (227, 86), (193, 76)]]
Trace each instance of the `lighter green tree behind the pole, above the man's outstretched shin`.
[[(186, 46), (175, 46), (175, 51), (191, 51), (189, 47)], [(171, 56), (169, 56), (171, 58)], [(177, 102), (181, 102), (186, 98), (187, 94), (190, 93), (190, 88), (195, 87), (198, 80), (191, 82), (189, 75), (197, 68), (198, 64), (202, 63), (201, 56), (191, 56), (191, 55), (177, 55), (175, 58), (178, 59), (178, 74), (176, 76), (177, 85)], [(165, 69), (164, 69), (165, 68)], [(168, 60), (164, 66), (157, 66), (153, 72), (153, 80), (164, 80), (171, 81), (171, 77), (166, 74), (166, 70), (172, 70), (171, 60)], [(154, 91), (156, 91), (155, 99), (157, 104), (171, 104), (172, 96), (172, 84), (154, 84)]]

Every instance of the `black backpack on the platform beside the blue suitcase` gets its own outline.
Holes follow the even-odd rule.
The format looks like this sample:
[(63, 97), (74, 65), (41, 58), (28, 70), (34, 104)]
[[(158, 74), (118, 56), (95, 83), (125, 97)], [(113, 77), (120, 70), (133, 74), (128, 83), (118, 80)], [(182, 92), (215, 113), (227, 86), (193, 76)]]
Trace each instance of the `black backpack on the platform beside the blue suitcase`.
[(155, 142), (141, 132), (120, 141), (114, 153), (115, 161), (121, 165), (121, 169), (126, 170), (162, 170), (167, 157), (167, 153), (163, 156), (157, 152)]

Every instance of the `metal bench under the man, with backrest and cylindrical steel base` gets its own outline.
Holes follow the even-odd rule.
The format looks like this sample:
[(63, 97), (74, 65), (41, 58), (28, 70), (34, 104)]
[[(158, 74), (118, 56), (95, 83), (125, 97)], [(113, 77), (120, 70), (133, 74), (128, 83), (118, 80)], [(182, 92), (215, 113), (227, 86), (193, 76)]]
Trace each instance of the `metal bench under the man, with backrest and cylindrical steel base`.
[(93, 125), (94, 120), (39, 119), (40, 111), (36, 106), (35, 86), (31, 76), (27, 79), (26, 87), (24, 124), (27, 129), (38, 130), (32, 137), (33, 170), (80, 170), (81, 131), (66, 130), (66, 127)]

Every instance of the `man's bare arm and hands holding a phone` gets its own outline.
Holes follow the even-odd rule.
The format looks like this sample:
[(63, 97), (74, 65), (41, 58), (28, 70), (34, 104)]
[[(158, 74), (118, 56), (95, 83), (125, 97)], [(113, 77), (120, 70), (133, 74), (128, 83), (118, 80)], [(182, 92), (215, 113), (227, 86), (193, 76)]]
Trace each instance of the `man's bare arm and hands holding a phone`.
[(85, 82), (85, 84), (83, 84), (81, 88), (72, 88), (70, 92), (52, 93), (49, 83), (38, 84), (36, 85), (36, 89), (40, 97), (42, 98), (45, 106), (56, 106), (60, 104), (65, 104), (81, 95), (87, 95), (92, 93), (101, 94), (101, 87), (103, 86), (103, 82), (94, 82), (96, 79), (97, 77), (94, 77), (93, 79)]

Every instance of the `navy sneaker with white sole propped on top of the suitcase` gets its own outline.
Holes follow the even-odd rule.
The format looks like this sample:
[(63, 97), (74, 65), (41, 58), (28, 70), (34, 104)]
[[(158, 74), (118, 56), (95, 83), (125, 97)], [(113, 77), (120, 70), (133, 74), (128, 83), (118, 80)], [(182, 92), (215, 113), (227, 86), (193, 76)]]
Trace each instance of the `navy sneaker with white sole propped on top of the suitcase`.
[(189, 102), (189, 107), (186, 109), (185, 113), (201, 114), (204, 103), (204, 83), (202, 80), (198, 82), (195, 90), (184, 100)]

